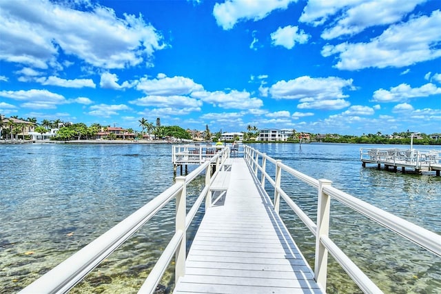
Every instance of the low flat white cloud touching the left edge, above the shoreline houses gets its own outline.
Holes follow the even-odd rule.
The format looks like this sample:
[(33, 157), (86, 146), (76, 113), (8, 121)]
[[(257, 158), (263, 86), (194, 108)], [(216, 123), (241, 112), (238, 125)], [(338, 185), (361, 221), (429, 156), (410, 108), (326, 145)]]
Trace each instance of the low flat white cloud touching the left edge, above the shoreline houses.
[(54, 109), (61, 104), (69, 103), (63, 95), (48, 90), (0, 91), (0, 97), (21, 101), (21, 107), (33, 109)]

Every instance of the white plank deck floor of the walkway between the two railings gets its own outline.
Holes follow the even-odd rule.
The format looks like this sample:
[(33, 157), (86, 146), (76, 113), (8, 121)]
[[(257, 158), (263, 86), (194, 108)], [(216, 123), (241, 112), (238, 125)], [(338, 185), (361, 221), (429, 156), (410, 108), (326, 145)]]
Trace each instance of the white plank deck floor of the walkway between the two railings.
[(174, 293), (322, 293), (271, 199), (232, 159), (221, 205), (207, 210)]

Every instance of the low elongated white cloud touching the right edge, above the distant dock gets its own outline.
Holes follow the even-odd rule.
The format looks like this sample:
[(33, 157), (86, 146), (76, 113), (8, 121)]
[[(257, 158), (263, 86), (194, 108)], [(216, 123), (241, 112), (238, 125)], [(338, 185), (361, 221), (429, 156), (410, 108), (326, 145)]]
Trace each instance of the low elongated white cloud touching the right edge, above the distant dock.
[(373, 101), (378, 102), (400, 102), (416, 97), (429, 97), (441, 94), (441, 88), (434, 84), (425, 84), (420, 88), (411, 88), (408, 84), (400, 84), (392, 87), (391, 90), (379, 89), (373, 92)]

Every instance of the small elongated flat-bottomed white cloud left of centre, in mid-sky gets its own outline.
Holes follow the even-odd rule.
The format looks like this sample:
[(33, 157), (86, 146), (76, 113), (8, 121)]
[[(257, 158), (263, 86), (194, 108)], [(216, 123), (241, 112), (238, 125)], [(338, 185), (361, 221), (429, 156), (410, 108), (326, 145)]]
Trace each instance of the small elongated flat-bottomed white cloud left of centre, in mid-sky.
[(142, 90), (147, 95), (188, 95), (191, 92), (203, 90), (203, 86), (196, 84), (187, 77), (165, 77), (160, 79), (147, 79), (143, 77), (136, 85), (137, 90)]

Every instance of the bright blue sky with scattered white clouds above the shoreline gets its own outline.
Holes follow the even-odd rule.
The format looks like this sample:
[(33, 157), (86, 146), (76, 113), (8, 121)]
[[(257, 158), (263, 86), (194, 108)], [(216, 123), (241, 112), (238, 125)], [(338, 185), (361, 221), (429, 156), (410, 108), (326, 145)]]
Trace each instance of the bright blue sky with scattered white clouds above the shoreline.
[(441, 133), (441, 0), (0, 1), (0, 113)]

